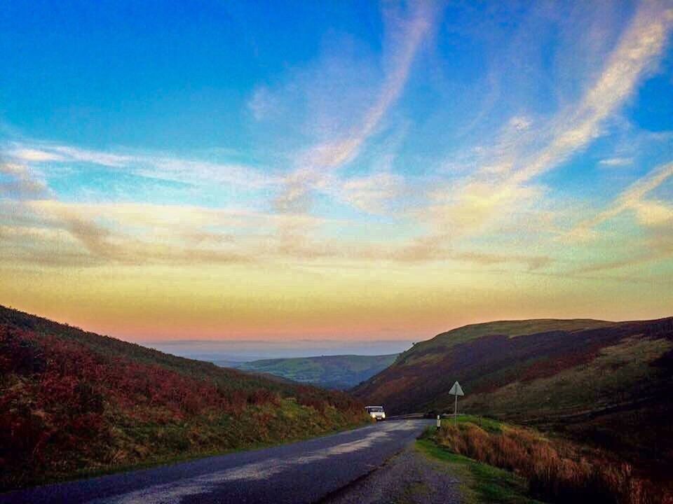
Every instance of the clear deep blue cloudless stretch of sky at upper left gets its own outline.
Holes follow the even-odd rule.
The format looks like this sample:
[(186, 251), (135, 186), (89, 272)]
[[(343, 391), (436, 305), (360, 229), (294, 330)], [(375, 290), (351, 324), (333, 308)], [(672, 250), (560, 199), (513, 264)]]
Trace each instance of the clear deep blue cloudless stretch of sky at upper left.
[(380, 25), (375, 4), (10, 2), (5, 119), (95, 148), (250, 148), (256, 85), (318, 56), (329, 31), (375, 49)]

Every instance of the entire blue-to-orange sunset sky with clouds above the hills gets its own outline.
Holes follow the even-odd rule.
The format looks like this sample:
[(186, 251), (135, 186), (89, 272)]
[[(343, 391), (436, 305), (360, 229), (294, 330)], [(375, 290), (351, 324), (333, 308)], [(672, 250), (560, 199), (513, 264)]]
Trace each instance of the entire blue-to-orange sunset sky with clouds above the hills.
[(672, 1), (17, 1), (0, 304), (132, 341), (673, 315)]

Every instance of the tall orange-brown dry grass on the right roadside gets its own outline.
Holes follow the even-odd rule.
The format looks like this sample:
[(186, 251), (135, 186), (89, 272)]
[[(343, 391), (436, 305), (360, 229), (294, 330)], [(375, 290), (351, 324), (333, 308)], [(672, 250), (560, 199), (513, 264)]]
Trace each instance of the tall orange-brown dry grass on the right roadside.
[(533, 430), (503, 425), (487, 432), (475, 423), (442, 426), (435, 434), (454, 453), (517, 473), (531, 496), (551, 503), (672, 504), (673, 496), (634, 474), (628, 463)]

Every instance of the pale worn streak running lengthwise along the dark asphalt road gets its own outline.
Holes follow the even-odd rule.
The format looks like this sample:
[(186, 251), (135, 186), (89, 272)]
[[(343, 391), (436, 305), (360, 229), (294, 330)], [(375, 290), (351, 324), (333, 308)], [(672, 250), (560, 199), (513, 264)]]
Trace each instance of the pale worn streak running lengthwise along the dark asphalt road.
[(385, 423), (383, 426), (357, 441), (337, 444), (331, 448), (309, 451), (306, 455), (291, 458), (269, 458), (268, 460), (241, 465), (223, 471), (179, 479), (175, 482), (148, 486), (145, 489), (122, 493), (111, 498), (100, 498), (88, 501), (90, 504), (179, 504), (186, 496), (208, 493), (215, 490), (215, 486), (231, 481), (254, 481), (265, 479), (283, 472), (294, 465), (303, 465), (325, 460), (330, 456), (353, 453), (372, 447), (374, 444), (387, 440), (390, 433), (397, 430), (414, 430), (416, 426), (410, 421)]

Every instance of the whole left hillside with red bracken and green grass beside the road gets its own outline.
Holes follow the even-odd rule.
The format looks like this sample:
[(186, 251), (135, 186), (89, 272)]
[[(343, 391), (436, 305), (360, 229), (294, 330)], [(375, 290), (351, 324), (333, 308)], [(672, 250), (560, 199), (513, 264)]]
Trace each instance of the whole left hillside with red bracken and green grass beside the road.
[(344, 393), (0, 307), (0, 489), (296, 440), (364, 419)]

